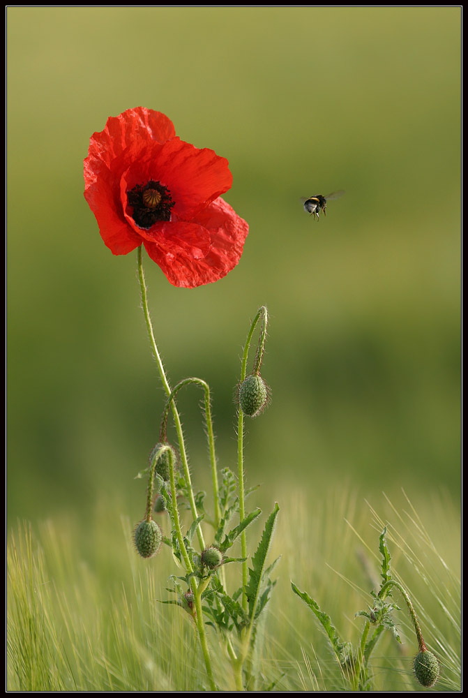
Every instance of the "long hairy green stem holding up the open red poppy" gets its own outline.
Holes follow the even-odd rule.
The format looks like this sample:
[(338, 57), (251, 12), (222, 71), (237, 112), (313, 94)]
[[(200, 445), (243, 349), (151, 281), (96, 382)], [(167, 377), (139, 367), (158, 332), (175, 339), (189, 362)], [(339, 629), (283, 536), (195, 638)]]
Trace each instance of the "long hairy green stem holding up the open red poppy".
[[(163, 383), (163, 388), (165, 389), (165, 393), (167, 394), (167, 396), (169, 396), (171, 394), (171, 388), (170, 388), (169, 382), (166, 378), (166, 374), (165, 374), (165, 370), (164, 370), (164, 366), (163, 366), (163, 361), (160, 357), (160, 354), (158, 351), (158, 346), (156, 345), (156, 339), (154, 339), (153, 326), (151, 325), (151, 318), (149, 315), (148, 295), (146, 293), (146, 283), (144, 281), (141, 246), (139, 246), (137, 248), (137, 264), (138, 264), (139, 288), (140, 288), (141, 297), (142, 297), (142, 308), (143, 308), (143, 313), (144, 313), (144, 320), (146, 322), (146, 329), (148, 331), (149, 341), (151, 343), (151, 350), (153, 351), (153, 356), (156, 359), (156, 364), (158, 366), (158, 371), (159, 371), (161, 383)], [(179, 417), (179, 413), (178, 413), (177, 408), (174, 404), (174, 401), (171, 402), (171, 408), (172, 408), (172, 415), (174, 417), (174, 424), (176, 425), (177, 437), (179, 440), (179, 450), (181, 452), (183, 474), (186, 477), (186, 482), (187, 482), (187, 486), (188, 486), (190, 510), (192, 511), (193, 518), (197, 519), (197, 517), (198, 517), (197, 505), (195, 504), (195, 496), (193, 494), (192, 481), (190, 479), (190, 470), (188, 468), (186, 445), (185, 445), (185, 442), (183, 440), (182, 424), (181, 424), (181, 419)], [(204, 549), (205, 544), (204, 544), (201, 526), (197, 526), (197, 536), (198, 536), (198, 541), (199, 541), (200, 547), (202, 549)]]

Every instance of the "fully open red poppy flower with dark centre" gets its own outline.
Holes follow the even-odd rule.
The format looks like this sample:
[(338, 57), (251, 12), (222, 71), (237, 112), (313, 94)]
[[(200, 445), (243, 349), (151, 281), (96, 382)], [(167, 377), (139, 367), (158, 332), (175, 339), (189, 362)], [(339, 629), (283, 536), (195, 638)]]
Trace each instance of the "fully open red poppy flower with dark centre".
[(232, 185), (228, 162), (176, 137), (172, 121), (144, 107), (107, 119), (84, 161), (84, 196), (114, 255), (144, 244), (174, 286), (222, 279), (248, 234), (220, 194)]

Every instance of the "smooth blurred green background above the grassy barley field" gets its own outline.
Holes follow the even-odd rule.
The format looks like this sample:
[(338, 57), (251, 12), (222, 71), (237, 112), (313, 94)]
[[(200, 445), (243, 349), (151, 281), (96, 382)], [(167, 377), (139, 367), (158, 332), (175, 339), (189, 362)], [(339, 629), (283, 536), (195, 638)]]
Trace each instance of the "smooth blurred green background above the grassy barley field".
[[(221, 467), (250, 320), (273, 401), (248, 486), (460, 493), (459, 7), (9, 7), (8, 518), (137, 518), (163, 408), (136, 278), (83, 197), (89, 137), (145, 106), (229, 160), (241, 262), (195, 290), (145, 255), (169, 380), (207, 380)], [(301, 196), (344, 188), (315, 223)], [(180, 409), (206, 487), (201, 394)], [(269, 505), (270, 506), (270, 505)]]

